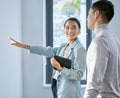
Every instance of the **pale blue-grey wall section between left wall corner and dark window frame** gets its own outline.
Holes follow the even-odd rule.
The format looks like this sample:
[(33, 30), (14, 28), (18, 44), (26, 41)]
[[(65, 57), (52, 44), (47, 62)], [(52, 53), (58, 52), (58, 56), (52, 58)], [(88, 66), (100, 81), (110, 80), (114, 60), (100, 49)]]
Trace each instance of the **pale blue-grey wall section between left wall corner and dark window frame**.
[[(45, 0), (23, 0), (22, 41), (32, 45), (44, 45), (43, 15)], [(44, 4), (43, 4), (44, 3)], [(51, 88), (43, 86), (43, 56), (23, 50), (23, 96), (24, 98), (52, 98)]]

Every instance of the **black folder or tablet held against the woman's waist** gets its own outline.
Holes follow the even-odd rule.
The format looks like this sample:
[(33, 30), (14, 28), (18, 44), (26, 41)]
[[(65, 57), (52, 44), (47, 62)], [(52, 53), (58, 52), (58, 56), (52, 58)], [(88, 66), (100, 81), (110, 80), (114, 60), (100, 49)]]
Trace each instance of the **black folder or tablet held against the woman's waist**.
[(60, 63), (61, 67), (66, 67), (68, 69), (71, 68), (72, 61), (70, 59), (64, 58), (61, 56), (57, 56), (57, 55), (55, 55), (54, 58), (55, 58), (55, 60), (57, 60)]

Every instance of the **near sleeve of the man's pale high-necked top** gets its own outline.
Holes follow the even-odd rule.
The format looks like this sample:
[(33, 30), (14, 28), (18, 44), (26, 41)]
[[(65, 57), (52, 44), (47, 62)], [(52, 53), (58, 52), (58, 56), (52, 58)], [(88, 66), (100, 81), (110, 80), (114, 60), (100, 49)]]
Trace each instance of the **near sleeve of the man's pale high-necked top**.
[(87, 55), (88, 81), (84, 98), (96, 98), (107, 68), (109, 48), (103, 39), (95, 39)]

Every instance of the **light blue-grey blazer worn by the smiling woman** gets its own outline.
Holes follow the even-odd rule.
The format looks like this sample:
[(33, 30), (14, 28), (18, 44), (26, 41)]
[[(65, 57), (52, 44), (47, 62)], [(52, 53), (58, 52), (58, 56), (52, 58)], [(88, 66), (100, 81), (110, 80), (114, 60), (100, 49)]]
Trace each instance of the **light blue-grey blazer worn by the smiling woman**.
[[(42, 47), (30, 46), (30, 53), (53, 57), (54, 55), (62, 56), (63, 51), (68, 43), (60, 45), (60, 47)], [(71, 69), (63, 68), (57, 78), (57, 94), (58, 98), (81, 98), (80, 80), (84, 74), (86, 66), (86, 51), (78, 39), (71, 45), (67, 54), (64, 56), (72, 60)], [(53, 71), (53, 76), (54, 76)]]

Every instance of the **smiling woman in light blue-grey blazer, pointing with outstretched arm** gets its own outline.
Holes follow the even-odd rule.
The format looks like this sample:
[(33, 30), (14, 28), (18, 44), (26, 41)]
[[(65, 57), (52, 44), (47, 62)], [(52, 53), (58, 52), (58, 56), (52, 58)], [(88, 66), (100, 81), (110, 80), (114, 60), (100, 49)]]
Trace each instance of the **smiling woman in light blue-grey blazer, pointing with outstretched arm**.
[[(54, 90), (57, 91), (57, 94), (53, 93), (54, 98), (81, 98), (80, 80), (85, 70), (86, 51), (78, 39), (80, 28), (80, 22), (76, 18), (67, 19), (64, 24), (64, 30), (68, 43), (63, 43), (57, 48), (30, 46), (9, 38), (12, 45), (29, 49), (31, 53), (51, 57), (52, 66), (57, 69), (54, 69), (52, 76), (52, 82), (57, 81), (57, 88), (52, 85), (53, 92)], [(71, 59), (71, 69), (61, 67), (60, 63), (53, 58), (54, 55)]]

